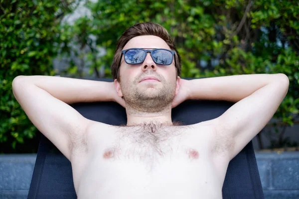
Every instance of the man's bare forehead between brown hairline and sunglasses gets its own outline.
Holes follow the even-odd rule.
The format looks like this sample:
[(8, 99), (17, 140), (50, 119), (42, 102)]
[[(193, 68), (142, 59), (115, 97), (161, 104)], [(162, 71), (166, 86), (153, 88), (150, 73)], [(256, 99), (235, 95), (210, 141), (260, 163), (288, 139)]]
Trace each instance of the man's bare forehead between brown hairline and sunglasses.
[(129, 48), (165, 48), (170, 50), (163, 39), (153, 35), (143, 35), (132, 38), (124, 46), (123, 50)]

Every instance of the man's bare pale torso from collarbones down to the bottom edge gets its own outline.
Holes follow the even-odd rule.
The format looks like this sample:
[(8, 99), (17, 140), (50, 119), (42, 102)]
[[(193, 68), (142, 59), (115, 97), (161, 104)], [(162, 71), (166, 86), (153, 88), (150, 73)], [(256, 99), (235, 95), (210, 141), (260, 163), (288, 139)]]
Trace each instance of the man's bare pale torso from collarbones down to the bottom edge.
[(93, 125), (73, 143), (78, 199), (222, 198), (230, 146), (213, 129)]

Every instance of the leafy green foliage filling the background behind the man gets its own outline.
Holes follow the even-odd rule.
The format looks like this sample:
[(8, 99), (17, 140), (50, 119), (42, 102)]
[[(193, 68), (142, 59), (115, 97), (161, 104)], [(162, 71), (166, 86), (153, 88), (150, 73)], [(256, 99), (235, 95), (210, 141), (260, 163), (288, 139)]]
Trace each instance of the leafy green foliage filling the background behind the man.
[[(59, 53), (70, 60), (61, 76), (84, 77), (83, 69), (88, 68), (90, 76), (111, 78), (118, 38), (128, 27), (145, 21), (161, 24), (174, 37), (183, 78), (286, 74), (289, 93), (274, 115), (276, 120), (268, 124), (277, 131), (271, 147), (297, 146), (284, 137), (288, 126), (299, 123), (297, 1), (86, 1), (91, 17), (80, 17), (72, 25), (61, 19), (79, 1), (0, 2), (0, 143), (6, 147), (18, 151), (16, 145), (28, 143), (37, 132), (13, 97), (14, 77), (57, 75), (52, 61)], [(82, 62), (76, 63), (73, 55)]]

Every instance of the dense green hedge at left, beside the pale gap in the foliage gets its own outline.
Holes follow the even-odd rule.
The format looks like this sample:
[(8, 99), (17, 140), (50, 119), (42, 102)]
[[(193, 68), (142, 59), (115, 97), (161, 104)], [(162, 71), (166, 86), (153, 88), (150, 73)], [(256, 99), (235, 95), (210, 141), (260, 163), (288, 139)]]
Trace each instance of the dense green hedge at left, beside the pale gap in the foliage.
[(11, 83), (18, 75), (55, 74), (52, 60), (62, 43), (60, 21), (71, 11), (68, 3), (0, 0), (0, 152), (35, 136), (37, 129), (15, 100)]

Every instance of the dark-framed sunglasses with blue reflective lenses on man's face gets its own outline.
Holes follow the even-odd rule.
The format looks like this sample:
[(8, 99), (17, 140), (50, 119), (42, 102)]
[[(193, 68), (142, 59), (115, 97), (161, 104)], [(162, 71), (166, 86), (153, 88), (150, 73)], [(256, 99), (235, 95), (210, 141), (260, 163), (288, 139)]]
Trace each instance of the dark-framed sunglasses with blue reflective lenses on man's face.
[[(154, 63), (160, 65), (170, 65), (172, 63), (175, 52), (172, 50), (164, 49), (164, 48), (149, 48), (153, 50), (146, 50), (143, 48), (129, 48), (127, 50), (122, 51), (122, 56), (124, 54), (125, 62), (127, 64), (141, 64), (145, 61), (148, 52)], [(122, 56), (120, 60), (122, 61)], [(174, 59), (174, 66), (176, 66)]]

